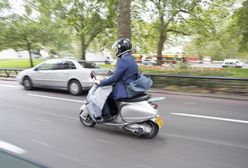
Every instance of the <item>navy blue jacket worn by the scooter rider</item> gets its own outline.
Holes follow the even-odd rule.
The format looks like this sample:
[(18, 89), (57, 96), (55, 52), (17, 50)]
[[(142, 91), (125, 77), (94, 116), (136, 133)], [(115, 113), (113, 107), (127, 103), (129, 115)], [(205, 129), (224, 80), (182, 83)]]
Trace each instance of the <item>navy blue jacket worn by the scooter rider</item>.
[(113, 75), (100, 82), (100, 86), (114, 85), (112, 98), (114, 100), (127, 98), (126, 85), (138, 78), (138, 65), (130, 53), (123, 54), (117, 62)]

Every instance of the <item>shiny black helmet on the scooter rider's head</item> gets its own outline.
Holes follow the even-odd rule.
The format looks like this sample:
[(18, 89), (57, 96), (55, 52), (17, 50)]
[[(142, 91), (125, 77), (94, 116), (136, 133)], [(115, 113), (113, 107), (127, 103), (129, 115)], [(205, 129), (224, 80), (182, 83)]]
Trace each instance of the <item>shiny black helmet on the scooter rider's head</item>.
[(132, 43), (128, 38), (120, 38), (113, 44), (112, 48), (115, 48), (116, 56), (119, 57), (122, 54), (131, 51)]

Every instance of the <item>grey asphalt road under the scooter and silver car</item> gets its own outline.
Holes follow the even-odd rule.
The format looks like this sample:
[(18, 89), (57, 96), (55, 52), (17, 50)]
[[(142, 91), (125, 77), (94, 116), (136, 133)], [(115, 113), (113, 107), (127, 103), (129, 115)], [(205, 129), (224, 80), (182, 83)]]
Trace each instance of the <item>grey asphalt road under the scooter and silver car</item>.
[(0, 141), (54, 168), (247, 168), (247, 101), (153, 96), (166, 96), (159, 104), (165, 127), (145, 140), (83, 127), (78, 114), (85, 95), (26, 91), (15, 81), (0, 81)]

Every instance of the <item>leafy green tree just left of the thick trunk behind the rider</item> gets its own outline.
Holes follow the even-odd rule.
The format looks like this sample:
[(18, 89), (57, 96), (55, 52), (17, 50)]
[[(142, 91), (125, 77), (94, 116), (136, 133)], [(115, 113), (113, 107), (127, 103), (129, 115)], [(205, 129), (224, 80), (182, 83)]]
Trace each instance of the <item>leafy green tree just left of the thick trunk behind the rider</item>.
[(115, 0), (74, 0), (67, 2), (71, 6), (67, 14), (68, 22), (76, 30), (81, 41), (82, 56), (93, 40), (106, 28), (113, 25)]

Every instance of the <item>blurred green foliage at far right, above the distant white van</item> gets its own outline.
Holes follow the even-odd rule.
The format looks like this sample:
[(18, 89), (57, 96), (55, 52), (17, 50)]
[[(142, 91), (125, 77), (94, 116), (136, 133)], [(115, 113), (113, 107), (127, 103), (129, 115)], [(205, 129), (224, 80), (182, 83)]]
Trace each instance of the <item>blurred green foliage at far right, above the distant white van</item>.
[[(225, 8), (223, 7), (223, 4)], [(209, 8), (201, 11), (201, 21), (192, 21), (194, 36), (185, 51), (188, 54), (211, 56), (215, 60), (247, 57), (240, 52), (242, 34), (233, 1), (214, 1)], [(245, 22), (245, 21), (244, 21)], [(202, 24), (208, 25), (204, 27)]]

